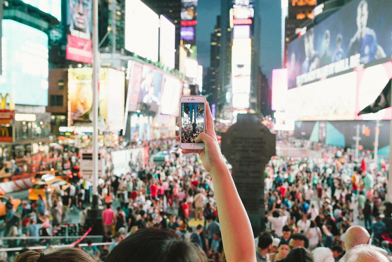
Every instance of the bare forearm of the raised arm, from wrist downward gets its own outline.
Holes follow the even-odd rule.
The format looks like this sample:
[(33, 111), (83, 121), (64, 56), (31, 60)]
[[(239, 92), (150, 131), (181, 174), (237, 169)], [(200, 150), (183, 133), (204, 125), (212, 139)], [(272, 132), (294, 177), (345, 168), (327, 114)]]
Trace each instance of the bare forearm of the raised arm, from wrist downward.
[(249, 217), (227, 165), (222, 161), (210, 170), (216, 196), (222, 243), (228, 262), (256, 261)]

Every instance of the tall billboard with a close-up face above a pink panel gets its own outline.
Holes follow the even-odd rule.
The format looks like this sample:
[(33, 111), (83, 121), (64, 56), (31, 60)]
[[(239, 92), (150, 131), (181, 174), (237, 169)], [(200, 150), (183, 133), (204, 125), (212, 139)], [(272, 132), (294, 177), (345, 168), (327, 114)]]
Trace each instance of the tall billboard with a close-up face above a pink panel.
[(65, 57), (68, 60), (88, 64), (91, 64), (93, 60), (91, 43), (91, 32), (93, 29), (92, 7), (92, 0), (67, 0), (69, 33)]

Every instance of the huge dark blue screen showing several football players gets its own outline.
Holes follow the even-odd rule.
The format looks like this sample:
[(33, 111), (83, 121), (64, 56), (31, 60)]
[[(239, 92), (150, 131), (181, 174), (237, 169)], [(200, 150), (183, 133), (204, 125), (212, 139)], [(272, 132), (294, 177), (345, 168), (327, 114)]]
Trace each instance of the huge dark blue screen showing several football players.
[(289, 89), (390, 61), (392, 1), (353, 0), (292, 41)]

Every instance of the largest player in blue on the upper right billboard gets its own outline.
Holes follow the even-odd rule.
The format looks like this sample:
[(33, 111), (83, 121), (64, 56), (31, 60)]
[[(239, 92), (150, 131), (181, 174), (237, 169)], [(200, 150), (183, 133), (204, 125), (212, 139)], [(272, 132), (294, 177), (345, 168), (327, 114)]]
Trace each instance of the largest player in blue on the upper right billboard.
[(357, 8), (358, 30), (350, 40), (347, 55), (347, 57), (350, 57), (361, 54), (361, 64), (386, 57), (384, 49), (377, 43), (374, 30), (366, 27), (368, 15), (368, 2), (367, 0), (362, 0)]

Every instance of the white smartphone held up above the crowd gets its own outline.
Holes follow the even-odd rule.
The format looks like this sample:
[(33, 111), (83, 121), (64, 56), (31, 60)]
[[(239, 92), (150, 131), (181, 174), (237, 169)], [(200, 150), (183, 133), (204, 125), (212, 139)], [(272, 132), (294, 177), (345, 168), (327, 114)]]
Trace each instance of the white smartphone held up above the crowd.
[(207, 100), (203, 95), (183, 95), (180, 98), (180, 148), (203, 149), (204, 143), (194, 139), (206, 131), (204, 117)]

